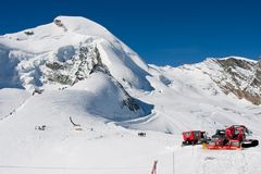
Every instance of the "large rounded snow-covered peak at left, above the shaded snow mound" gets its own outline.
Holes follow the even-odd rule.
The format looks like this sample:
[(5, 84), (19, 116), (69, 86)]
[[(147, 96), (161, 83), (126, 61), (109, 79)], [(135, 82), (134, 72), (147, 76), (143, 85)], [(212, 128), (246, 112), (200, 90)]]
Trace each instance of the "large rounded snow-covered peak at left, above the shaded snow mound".
[(151, 90), (147, 64), (101, 25), (79, 16), (0, 36), (0, 88), (34, 89), (50, 84), (74, 85), (94, 67), (123, 86)]

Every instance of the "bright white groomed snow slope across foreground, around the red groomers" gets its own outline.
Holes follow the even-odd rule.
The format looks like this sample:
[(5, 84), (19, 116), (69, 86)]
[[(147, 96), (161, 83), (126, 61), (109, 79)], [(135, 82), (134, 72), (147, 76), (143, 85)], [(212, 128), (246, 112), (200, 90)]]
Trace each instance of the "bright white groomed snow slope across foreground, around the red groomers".
[[(233, 96), (213, 98), (197, 87), (191, 90), (189, 84), (195, 82), (179, 82), (178, 78), (187, 78), (188, 74), (178, 74), (178, 69), (164, 74), (175, 82), (167, 87), (158, 80), (157, 71), (151, 70), (154, 77), (149, 79), (157, 90), (145, 94), (132, 89), (135, 97), (156, 107), (150, 115), (141, 119), (108, 120), (90, 112), (91, 109), (85, 110), (85, 105), (90, 105), (84, 96), (88, 92), (78, 90), (77, 86), (27, 96), (14, 114), (0, 122), (0, 173), (144, 174), (150, 173), (154, 160), (158, 160), (158, 173), (173, 173), (173, 152), (176, 174), (261, 172), (260, 147), (240, 151), (181, 147), (183, 130), (206, 129), (212, 134), (215, 128), (231, 124), (247, 125), (259, 139), (260, 107)], [(199, 78), (206, 85), (203, 77)], [(12, 89), (0, 91), (3, 90), (9, 92), (5, 100), (17, 95)], [(18, 100), (13, 103), (20, 105)], [(83, 130), (75, 130), (70, 116)], [(47, 125), (46, 130), (35, 129), (37, 125)], [(146, 132), (147, 136), (138, 137), (138, 132)]]

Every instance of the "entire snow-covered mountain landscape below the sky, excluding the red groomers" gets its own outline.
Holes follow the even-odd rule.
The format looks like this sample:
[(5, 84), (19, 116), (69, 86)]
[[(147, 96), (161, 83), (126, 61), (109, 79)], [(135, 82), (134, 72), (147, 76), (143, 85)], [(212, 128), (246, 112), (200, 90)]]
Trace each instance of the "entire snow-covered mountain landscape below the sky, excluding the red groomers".
[(59, 16), (0, 36), (0, 173), (141, 174), (157, 159), (170, 173), (173, 151), (178, 173), (261, 172), (260, 147), (179, 147), (183, 130), (231, 124), (261, 137), (261, 62), (148, 65), (99, 24)]

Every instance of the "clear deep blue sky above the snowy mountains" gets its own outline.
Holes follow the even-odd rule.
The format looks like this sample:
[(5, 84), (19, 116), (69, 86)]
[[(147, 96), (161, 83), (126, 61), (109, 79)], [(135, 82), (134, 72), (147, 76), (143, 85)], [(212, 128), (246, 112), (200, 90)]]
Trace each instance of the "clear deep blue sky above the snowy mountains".
[(261, 54), (259, 0), (4, 0), (0, 35), (79, 15), (105, 26), (148, 62)]

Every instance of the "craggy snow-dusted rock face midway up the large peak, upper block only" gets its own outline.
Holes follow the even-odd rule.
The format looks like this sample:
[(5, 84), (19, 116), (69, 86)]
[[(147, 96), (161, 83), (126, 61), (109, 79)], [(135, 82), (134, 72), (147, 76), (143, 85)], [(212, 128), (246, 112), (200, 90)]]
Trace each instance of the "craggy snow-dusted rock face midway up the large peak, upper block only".
[(99, 50), (92, 45), (82, 45), (76, 54), (65, 62), (47, 62), (46, 82), (74, 85), (88, 78), (95, 69), (107, 69), (102, 64)]

